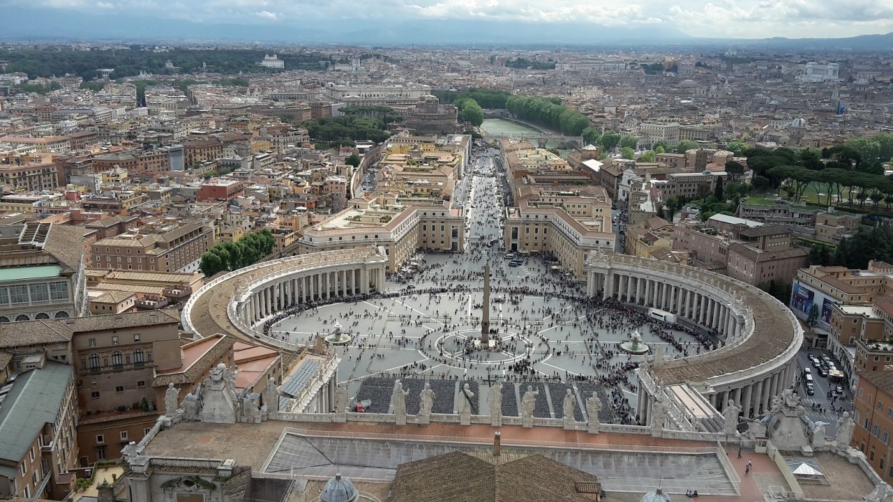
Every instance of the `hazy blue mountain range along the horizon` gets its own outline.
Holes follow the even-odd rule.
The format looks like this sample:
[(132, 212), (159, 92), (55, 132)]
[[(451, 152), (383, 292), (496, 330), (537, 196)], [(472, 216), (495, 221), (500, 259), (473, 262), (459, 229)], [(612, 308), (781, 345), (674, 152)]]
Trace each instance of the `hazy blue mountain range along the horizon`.
[(893, 51), (893, 33), (849, 38), (699, 38), (659, 25), (482, 20), (203, 23), (135, 13), (20, 8), (4, 13), (0, 40), (230, 42), (369, 46), (727, 46), (789, 50)]

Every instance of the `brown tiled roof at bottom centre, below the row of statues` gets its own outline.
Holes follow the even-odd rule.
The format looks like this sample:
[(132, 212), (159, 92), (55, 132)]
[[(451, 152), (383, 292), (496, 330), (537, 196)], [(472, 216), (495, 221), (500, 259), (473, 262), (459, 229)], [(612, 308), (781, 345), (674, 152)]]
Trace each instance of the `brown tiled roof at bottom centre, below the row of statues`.
[[(546, 456), (524, 456), (501, 463), (451, 452), (401, 464), (391, 485), (390, 502), (580, 502), (596, 500), (598, 478)], [(493, 463), (496, 461), (496, 464)]]

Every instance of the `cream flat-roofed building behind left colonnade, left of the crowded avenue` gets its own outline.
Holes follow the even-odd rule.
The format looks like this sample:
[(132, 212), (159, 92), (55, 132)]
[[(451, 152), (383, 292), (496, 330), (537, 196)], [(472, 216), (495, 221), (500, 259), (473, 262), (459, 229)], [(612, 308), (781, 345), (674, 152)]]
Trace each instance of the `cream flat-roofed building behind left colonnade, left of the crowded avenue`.
[(403, 207), (396, 198), (355, 197), (349, 207), (307, 227), (297, 239), (296, 254), (381, 246), (388, 255), (385, 270), (397, 272), (419, 249), (463, 249), (465, 218), (448, 203)]

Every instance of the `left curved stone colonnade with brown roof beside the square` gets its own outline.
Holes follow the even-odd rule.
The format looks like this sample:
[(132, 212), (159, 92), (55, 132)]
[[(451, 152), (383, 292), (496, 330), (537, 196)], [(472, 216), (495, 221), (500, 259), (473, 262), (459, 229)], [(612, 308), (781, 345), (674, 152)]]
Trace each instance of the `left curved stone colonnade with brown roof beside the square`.
[(295, 350), (256, 329), (292, 305), (366, 295), (383, 289), (388, 257), (379, 247), (288, 256), (228, 272), (198, 289), (183, 308), (182, 322), (204, 338), (226, 333)]

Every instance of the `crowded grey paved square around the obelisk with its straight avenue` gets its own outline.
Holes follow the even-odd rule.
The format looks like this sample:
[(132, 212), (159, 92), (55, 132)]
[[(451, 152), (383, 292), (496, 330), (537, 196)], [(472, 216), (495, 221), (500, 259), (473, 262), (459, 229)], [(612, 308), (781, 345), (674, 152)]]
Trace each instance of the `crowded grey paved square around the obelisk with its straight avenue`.
[[(630, 422), (625, 410), (630, 401), (634, 405), (632, 371), (641, 357), (622, 352), (620, 342), (635, 331), (652, 352), (673, 355), (695, 354), (714, 339), (648, 319), (641, 310), (585, 298), (580, 284), (556, 271), (547, 256), (526, 257), (520, 266), (510, 266), (499, 244), (504, 207), (497, 175), (502, 174), (486, 156), (476, 161), (474, 172), (463, 180), (463, 190), (471, 195), (465, 203), (468, 234), (463, 253), (418, 255), (413, 260), (418, 268), (388, 277), (388, 292), (395, 297), (317, 306), (276, 322), (270, 334), (313, 345), (317, 334), (328, 334), (336, 326), (347, 332), (351, 341), (335, 348), (341, 357), (338, 379), (346, 382), (355, 399), (370, 398), (359, 391), (371, 378), (390, 385), (397, 378), (445, 380), (451, 388), (457, 388), (457, 381), (472, 381), (484, 390), (494, 381), (572, 382), (580, 395), (597, 389), (618, 412), (616, 421)], [(494, 343), (482, 349), (482, 278), (488, 261)], [(588, 390), (580, 388), (583, 383)], [(595, 388), (589, 389), (592, 385)], [(369, 411), (388, 411), (387, 386), (375, 387)], [(445, 394), (446, 388), (438, 396)], [(514, 403), (510, 394), (508, 401)], [(540, 399), (538, 416), (554, 416), (554, 408), (561, 407), (555, 406), (561, 398), (549, 401), (546, 389)], [(581, 399), (585, 402), (585, 396)]]

